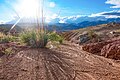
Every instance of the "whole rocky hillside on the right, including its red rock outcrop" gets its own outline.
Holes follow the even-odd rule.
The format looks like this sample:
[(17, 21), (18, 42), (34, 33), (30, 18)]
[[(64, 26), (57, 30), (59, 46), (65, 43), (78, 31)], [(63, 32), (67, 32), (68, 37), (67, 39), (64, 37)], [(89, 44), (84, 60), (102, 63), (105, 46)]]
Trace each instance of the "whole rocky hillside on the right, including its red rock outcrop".
[(64, 32), (66, 40), (80, 44), (84, 51), (120, 60), (120, 24), (110, 23)]

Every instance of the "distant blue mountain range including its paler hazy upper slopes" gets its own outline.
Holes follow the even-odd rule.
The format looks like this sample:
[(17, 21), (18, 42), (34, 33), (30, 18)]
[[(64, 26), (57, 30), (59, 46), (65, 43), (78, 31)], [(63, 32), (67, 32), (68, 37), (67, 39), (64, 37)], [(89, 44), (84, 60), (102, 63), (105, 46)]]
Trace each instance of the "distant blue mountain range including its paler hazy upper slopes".
[(88, 18), (86, 17), (86, 20), (84, 21), (83, 19), (77, 19), (74, 22), (72, 22), (71, 20), (67, 20), (68, 22), (66, 23), (51, 23), (49, 24), (50, 27), (52, 27), (53, 25), (56, 26), (56, 30), (57, 31), (68, 31), (68, 30), (75, 30), (75, 29), (80, 29), (80, 28), (85, 28), (85, 27), (89, 27), (89, 26), (97, 26), (97, 25), (101, 25), (101, 24), (108, 24), (108, 23), (120, 23), (120, 18)]

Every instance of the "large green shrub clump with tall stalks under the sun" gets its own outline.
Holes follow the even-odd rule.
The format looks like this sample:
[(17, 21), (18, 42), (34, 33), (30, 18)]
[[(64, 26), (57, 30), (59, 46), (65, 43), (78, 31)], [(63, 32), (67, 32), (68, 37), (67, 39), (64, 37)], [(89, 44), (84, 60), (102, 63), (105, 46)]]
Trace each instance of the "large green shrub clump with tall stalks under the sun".
[(36, 31), (26, 31), (20, 34), (20, 41), (31, 47), (45, 47), (47, 39), (46, 33)]

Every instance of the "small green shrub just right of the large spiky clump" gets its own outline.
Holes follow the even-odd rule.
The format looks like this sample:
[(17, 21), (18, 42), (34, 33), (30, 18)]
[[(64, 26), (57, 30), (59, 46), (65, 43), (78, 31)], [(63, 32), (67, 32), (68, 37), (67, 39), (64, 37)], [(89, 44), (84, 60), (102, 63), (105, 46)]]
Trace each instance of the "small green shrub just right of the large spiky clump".
[(50, 41), (57, 41), (60, 44), (62, 44), (64, 39), (63, 39), (62, 36), (58, 35), (57, 33), (50, 33), (49, 34), (49, 40)]

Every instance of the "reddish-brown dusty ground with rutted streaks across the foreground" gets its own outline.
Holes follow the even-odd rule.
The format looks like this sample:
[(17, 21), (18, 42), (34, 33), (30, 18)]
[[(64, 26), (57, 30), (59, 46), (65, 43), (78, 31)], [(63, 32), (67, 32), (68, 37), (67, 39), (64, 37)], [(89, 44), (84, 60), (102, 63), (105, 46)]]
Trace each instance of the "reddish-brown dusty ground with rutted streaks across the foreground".
[(27, 49), (3, 56), (0, 80), (120, 80), (120, 61), (67, 42), (57, 49)]

